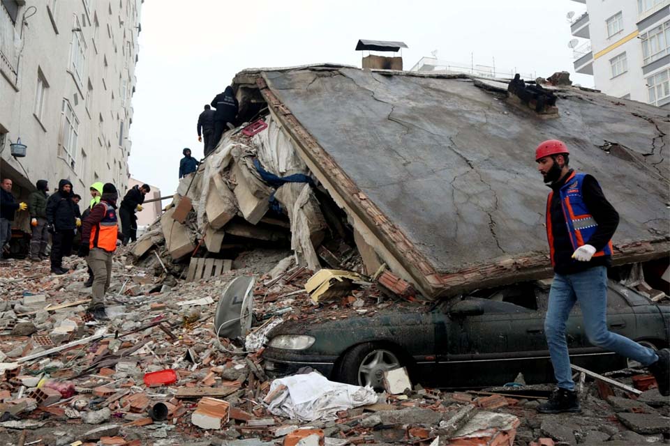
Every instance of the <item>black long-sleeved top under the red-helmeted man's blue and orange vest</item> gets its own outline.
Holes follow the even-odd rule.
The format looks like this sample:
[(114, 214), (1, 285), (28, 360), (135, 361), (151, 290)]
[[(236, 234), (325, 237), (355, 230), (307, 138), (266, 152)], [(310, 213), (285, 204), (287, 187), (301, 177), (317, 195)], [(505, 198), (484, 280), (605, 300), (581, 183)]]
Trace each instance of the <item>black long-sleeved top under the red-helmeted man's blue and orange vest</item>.
[[(610, 266), (610, 256), (593, 257), (588, 262), (581, 262), (572, 259), (574, 248), (570, 243), (569, 234), (567, 233), (567, 226), (565, 224), (565, 217), (563, 217), (563, 206), (560, 204), (560, 187), (565, 184), (565, 180), (572, 174), (569, 171), (563, 178), (556, 183), (549, 185), (553, 190), (553, 197), (551, 198), (551, 233), (553, 235), (553, 249), (554, 261), (556, 265), (553, 270), (561, 275), (574, 274), (593, 268), (594, 266)], [(600, 185), (593, 176), (586, 175), (583, 180), (581, 197), (588, 208), (588, 211), (593, 215), (598, 227), (589, 240), (584, 240), (586, 245), (595, 247), (596, 251), (600, 251), (611, 240), (616, 231), (616, 226), (619, 224), (619, 214), (614, 207), (607, 201)]]

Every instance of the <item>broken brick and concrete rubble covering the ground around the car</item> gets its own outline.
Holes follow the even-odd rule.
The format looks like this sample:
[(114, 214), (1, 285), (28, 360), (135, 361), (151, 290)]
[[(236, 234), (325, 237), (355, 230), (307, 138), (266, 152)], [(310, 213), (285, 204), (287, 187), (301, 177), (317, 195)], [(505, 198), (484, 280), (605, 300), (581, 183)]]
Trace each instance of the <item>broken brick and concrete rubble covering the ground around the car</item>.
[[(292, 261), (269, 272), (238, 259), (239, 269), (193, 282), (129, 261), (126, 249), (114, 259), (104, 324), (85, 316), (80, 259), (66, 261), (64, 276), (27, 261), (0, 269), (0, 445), (630, 445), (668, 433), (668, 399), (653, 388), (638, 397), (618, 381), (588, 384), (581, 415), (537, 415), (546, 386), (441, 392), (413, 385), (404, 369), (387, 374), (380, 394), (308, 370), (271, 380), (254, 337), (279, 318), (422, 304), (361, 282), (315, 305), (305, 288), (311, 271)], [(255, 321), (246, 336), (218, 339), (216, 306), (239, 277), (257, 278)], [(340, 399), (324, 407), (324, 394)]]

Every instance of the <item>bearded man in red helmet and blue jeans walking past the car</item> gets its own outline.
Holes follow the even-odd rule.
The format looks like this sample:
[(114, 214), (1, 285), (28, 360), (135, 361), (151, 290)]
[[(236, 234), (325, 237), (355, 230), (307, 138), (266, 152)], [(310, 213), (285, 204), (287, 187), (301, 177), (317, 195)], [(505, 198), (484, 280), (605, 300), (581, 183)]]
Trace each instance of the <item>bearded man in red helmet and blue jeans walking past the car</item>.
[(611, 264), (611, 238), (618, 226), (618, 213), (593, 176), (569, 168), (569, 151), (563, 142), (550, 139), (539, 144), (535, 162), (544, 183), (551, 187), (546, 203), (546, 233), (554, 276), (544, 333), (558, 383), (549, 401), (537, 410), (581, 410), (565, 339), (565, 323), (576, 302), (589, 342), (648, 367), (660, 393), (668, 395), (670, 350), (655, 352), (607, 329), (607, 268)]

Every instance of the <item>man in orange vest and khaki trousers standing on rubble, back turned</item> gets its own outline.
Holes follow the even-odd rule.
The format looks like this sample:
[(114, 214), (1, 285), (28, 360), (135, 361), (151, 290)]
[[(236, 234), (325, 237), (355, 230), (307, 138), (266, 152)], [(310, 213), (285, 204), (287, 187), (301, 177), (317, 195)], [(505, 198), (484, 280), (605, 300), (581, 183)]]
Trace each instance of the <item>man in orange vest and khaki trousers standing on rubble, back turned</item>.
[(91, 209), (82, 226), (82, 245), (77, 252), (85, 257), (93, 270), (94, 280), (91, 305), (87, 312), (98, 321), (107, 319), (105, 293), (112, 280), (112, 256), (117, 250), (117, 239), (121, 237), (117, 223), (117, 200), (119, 194), (112, 183), (103, 186), (100, 203)]

